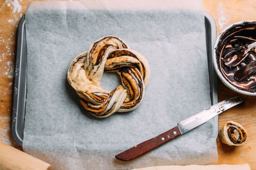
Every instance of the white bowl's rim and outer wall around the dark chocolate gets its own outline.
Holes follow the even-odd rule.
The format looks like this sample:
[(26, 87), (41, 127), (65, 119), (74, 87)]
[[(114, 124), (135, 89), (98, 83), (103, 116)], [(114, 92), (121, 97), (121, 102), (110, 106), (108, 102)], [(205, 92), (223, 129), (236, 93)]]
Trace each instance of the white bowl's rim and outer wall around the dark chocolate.
[(232, 25), (229, 25), (226, 29), (224, 29), (220, 35), (217, 37), (216, 39), (216, 42), (215, 42), (215, 45), (214, 45), (214, 52), (213, 52), (213, 63), (214, 63), (214, 68), (215, 68), (215, 71), (216, 73), (218, 74), (220, 80), (228, 87), (230, 88), (231, 90), (234, 90), (235, 92), (238, 92), (240, 94), (244, 94), (244, 95), (247, 95), (247, 96), (256, 96), (256, 92), (249, 92), (249, 91), (246, 91), (246, 90), (241, 90), (241, 89), (238, 89), (236, 86), (232, 85), (230, 83), (230, 81), (228, 81), (224, 76), (223, 74), (221, 73), (220, 69), (218, 68), (218, 63), (217, 63), (217, 56), (218, 56), (218, 49), (217, 49), (217, 46), (219, 45), (219, 43), (221, 43), (221, 41), (223, 40), (223, 38), (227, 37), (228, 35), (232, 34), (232, 32), (236, 31), (236, 30), (239, 30), (239, 27), (241, 27), (242, 25), (246, 25), (246, 24), (254, 24), (256, 25), (256, 21), (252, 21), (252, 20), (244, 20), (244, 21), (241, 21), (241, 22), (236, 22)]

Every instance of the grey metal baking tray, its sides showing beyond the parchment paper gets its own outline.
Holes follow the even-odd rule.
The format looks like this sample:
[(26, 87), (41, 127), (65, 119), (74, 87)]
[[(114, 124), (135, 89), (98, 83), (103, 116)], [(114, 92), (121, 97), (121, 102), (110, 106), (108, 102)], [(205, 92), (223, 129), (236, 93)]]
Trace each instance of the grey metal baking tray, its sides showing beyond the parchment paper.
[[(27, 94), (27, 45), (26, 45), (26, 20), (25, 16), (20, 19), (17, 31), (17, 55), (15, 65), (15, 83), (13, 89), (13, 113), (12, 113), (12, 136), (22, 146), (26, 94)], [(211, 103), (218, 103), (217, 76), (212, 64), (212, 52), (216, 39), (216, 25), (214, 19), (205, 12), (205, 37), (207, 46), (207, 59), (209, 67), (209, 80), (211, 88)], [(216, 125), (216, 138), (218, 137), (218, 116), (214, 117)]]

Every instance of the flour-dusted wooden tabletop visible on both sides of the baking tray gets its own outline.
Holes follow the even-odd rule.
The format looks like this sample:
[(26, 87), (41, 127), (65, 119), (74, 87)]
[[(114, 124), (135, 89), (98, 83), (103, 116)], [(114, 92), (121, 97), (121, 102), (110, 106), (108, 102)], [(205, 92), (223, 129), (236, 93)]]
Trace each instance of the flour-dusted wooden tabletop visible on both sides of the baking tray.
[[(13, 64), (17, 25), (26, 11), (28, 0), (0, 0), (0, 141), (22, 149), (11, 136)], [(241, 20), (256, 20), (255, 0), (203, 0), (204, 9), (214, 17), (217, 35), (228, 25)], [(219, 101), (237, 96), (223, 83), (218, 83)], [(223, 145), (217, 140), (218, 164), (250, 164), (256, 170), (256, 97), (243, 96), (243, 108), (232, 108), (221, 114), (222, 127), (228, 120), (243, 125), (248, 141), (243, 146)]]

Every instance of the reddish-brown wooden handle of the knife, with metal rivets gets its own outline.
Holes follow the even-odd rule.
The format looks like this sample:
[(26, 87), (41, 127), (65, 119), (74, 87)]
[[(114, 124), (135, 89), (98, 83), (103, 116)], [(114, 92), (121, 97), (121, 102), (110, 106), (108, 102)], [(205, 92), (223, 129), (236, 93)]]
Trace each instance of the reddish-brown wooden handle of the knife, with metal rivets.
[(155, 138), (148, 139), (147, 141), (144, 141), (139, 145), (133, 146), (132, 148), (129, 148), (128, 150), (125, 150), (122, 153), (119, 153), (115, 157), (116, 159), (126, 160), (126, 161), (134, 159), (142, 155), (143, 153), (146, 153), (146, 152), (149, 152), (150, 150), (154, 150), (155, 148), (158, 148), (159, 146), (172, 140), (173, 138), (176, 138), (177, 136), (180, 136), (180, 131), (179, 131), (179, 128), (176, 126), (176, 127), (173, 127), (173, 129), (170, 129), (169, 131), (164, 132), (163, 134), (159, 134), (159, 136), (156, 136)]

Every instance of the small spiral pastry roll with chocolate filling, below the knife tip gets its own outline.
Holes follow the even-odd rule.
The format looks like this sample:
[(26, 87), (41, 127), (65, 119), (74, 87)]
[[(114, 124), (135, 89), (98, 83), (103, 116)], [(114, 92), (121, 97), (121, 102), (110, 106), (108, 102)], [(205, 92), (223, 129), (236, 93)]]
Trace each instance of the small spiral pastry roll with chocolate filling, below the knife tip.
[(220, 130), (220, 141), (230, 146), (243, 145), (247, 139), (244, 127), (233, 121), (228, 121)]

